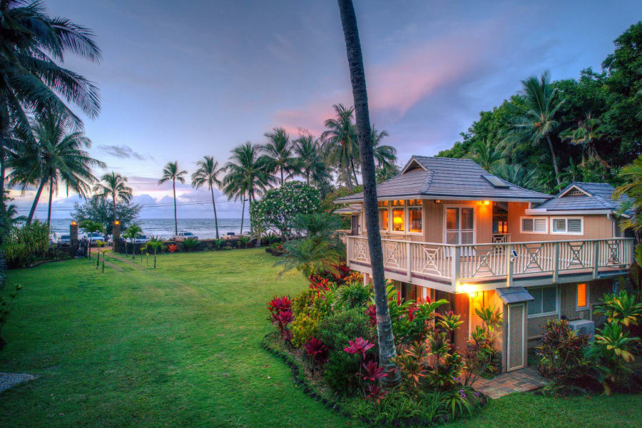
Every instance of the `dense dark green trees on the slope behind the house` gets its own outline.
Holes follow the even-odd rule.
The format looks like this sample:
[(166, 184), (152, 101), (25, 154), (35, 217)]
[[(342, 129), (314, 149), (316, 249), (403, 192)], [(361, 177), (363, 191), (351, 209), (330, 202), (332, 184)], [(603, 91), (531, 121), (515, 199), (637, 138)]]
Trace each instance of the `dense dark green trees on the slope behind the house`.
[[(550, 127), (541, 133), (543, 143), (533, 134), (520, 132), (515, 138), (511, 133), (516, 126), (524, 131), (534, 111), (529, 106), (530, 83), (526, 79), (524, 91), (482, 111), (462, 133), (463, 140), (438, 156), (470, 157), (501, 178), (549, 193), (572, 180), (619, 184), (619, 168), (642, 151), (642, 22), (616, 39), (615, 51), (600, 72), (587, 68), (579, 79), (551, 82), (554, 114), (546, 116)], [(546, 136), (559, 163), (561, 185), (555, 180)], [(485, 145), (489, 149), (480, 153)], [(491, 163), (500, 159), (500, 165), (491, 168), (489, 158)]]

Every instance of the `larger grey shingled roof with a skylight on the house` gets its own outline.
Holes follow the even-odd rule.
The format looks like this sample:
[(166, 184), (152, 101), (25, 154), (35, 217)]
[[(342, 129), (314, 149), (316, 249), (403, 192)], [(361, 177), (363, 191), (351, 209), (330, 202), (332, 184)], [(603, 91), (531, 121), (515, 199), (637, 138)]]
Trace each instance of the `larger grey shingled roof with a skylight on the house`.
[[(494, 178), (471, 159), (433, 158), (412, 156), (402, 168), (402, 173), (377, 185), (379, 199), (391, 198), (432, 198), (467, 200), (519, 200), (544, 202), (551, 195), (534, 192), (495, 178), (503, 183), (492, 184)], [(506, 187), (504, 187), (506, 186)], [(363, 193), (348, 195), (335, 200), (337, 203), (363, 200)]]

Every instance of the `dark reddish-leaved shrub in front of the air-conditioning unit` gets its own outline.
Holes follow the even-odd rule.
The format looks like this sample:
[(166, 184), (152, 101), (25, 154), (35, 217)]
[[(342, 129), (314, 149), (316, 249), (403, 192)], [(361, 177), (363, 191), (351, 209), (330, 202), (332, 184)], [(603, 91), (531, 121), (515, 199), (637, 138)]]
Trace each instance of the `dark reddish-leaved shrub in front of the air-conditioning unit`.
[(541, 357), (537, 370), (555, 384), (572, 384), (588, 372), (584, 352), (588, 337), (572, 331), (566, 320), (548, 320), (536, 347)]

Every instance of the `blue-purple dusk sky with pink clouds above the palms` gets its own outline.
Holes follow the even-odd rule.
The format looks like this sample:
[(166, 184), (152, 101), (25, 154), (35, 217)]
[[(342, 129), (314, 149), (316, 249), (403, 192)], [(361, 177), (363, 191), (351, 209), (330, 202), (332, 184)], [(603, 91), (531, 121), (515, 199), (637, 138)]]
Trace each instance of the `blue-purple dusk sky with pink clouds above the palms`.
[[(521, 80), (600, 69), (613, 40), (642, 17), (641, 1), (354, 0), (370, 119), (389, 133), (403, 165), (432, 156), (505, 98)], [(95, 82), (101, 114), (86, 119), (91, 154), (126, 175), (143, 218), (173, 216), (163, 165), (221, 165), (245, 141), (282, 126), (315, 136), (332, 105), (352, 105), (345, 41), (335, 1), (46, 0), (52, 16), (92, 29), (101, 63), (70, 56), (64, 66)], [(96, 170), (101, 175), (103, 170)], [(26, 213), (34, 192), (14, 203)], [(177, 186), (179, 218), (210, 218), (207, 190)], [(240, 202), (216, 192), (220, 218)], [(54, 218), (80, 200), (63, 189)], [(37, 215), (46, 218), (47, 197)]]

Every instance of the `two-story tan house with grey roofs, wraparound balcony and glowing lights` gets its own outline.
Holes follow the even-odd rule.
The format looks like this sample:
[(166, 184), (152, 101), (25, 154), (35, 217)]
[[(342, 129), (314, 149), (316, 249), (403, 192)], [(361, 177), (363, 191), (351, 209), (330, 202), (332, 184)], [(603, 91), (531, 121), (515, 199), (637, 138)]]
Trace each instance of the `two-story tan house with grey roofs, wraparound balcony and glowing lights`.
[[(526, 365), (546, 320), (591, 320), (593, 305), (626, 275), (633, 239), (618, 228), (608, 184), (571, 183), (552, 196), (521, 188), (468, 159), (413, 156), (377, 185), (385, 275), (408, 299), (445, 298), (464, 324), (464, 347), (501, 308), (503, 370)], [(336, 200), (352, 217), (347, 264), (370, 280), (363, 194)]]

